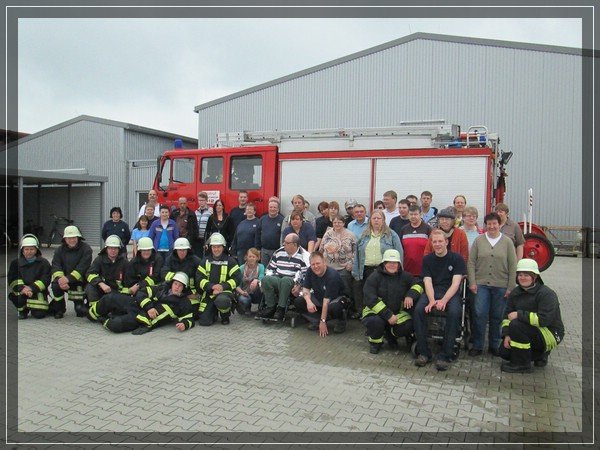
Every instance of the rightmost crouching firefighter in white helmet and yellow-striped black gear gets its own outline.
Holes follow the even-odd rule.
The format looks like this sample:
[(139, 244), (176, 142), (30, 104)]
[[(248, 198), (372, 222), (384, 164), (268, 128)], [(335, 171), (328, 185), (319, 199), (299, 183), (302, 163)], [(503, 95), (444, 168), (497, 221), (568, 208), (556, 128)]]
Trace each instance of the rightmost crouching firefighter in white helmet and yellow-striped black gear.
[(550, 351), (565, 336), (556, 292), (544, 285), (533, 259), (517, 263), (517, 287), (506, 302), (502, 336), (499, 354), (509, 362), (501, 370), (512, 373), (531, 372), (531, 361), (545, 367)]

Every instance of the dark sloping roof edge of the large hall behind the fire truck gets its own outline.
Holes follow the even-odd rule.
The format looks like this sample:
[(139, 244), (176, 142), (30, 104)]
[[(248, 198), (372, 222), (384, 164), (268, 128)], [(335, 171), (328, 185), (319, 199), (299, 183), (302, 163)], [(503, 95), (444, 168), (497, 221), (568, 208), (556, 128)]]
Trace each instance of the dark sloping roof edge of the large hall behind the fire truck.
[(484, 39), (484, 38), (472, 38), (465, 36), (453, 36), (447, 34), (434, 34), (434, 33), (413, 33), (408, 36), (401, 37), (399, 39), (395, 39), (390, 42), (386, 42), (380, 45), (376, 45), (375, 47), (370, 47), (365, 50), (361, 50), (356, 53), (352, 53), (347, 56), (343, 56), (341, 58), (337, 58), (308, 69), (303, 69), (298, 72), (294, 72), (290, 75), (286, 75), (280, 78), (276, 78), (271, 81), (267, 81), (265, 83), (258, 84), (256, 86), (250, 87), (248, 89), (244, 89), (238, 92), (235, 92), (230, 95), (226, 95), (224, 97), (220, 97), (215, 100), (211, 100), (206, 103), (202, 103), (194, 108), (194, 112), (201, 111), (203, 109), (210, 108), (211, 106), (218, 105), (220, 103), (225, 103), (229, 100), (233, 100), (234, 98), (243, 97), (244, 95), (251, 94), (253, 92), (258, 92), (263, 89), (269, 88), (271, 86), (275, 86), (281, 83), (285, 83), (286, 81), (293, 80), (295, 78), (300, 78), (304, 75), (308, 75), (310, 73), (315, 73), (323, 69), (327, 69), (329, 67), (337, 66), (339, 64), (343, 64), (348, 61), (352, 61), (354, 59), (361, 58), (363, 56), (367, 56), (370, 54), (375, 54), (383, 50), (387, 50), (388, 48), (396, 47), (401, 44), (406, 44), (407, 42), (411, 42), (418, 39), (425, 40), (433, 40), (433, 41), (444, 41), (444, 42), (453, 42), (459, 44), (470, 44), (470, 45), (487, 45), (492, 47), (505, 47), (505, 48), (516, 48), (519, 50), (533, 50), (533, 51), (542, 51), (542, 52), (552, 52), (552, 53), (563, 53), (563, 54), (572, 54), (581, 56), (584, 54), (584, 51), (575, 47), (561, 47), (555, 45), (545, 45), (545, 44), (531, 44), (526, 42), (517, 42), (517, 41), (503, 41), (496, 39)]

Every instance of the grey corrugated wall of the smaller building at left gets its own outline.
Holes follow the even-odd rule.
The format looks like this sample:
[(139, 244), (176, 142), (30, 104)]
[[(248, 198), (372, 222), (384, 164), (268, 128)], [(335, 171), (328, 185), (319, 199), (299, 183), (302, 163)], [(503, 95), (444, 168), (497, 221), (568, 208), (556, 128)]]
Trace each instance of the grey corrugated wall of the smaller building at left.
[[(87, 211), (78, 212), (79, 216), (91, 214), (87, 218), (80, 217), (84, 223), (101, 221), (100, 228), (90, 227), (90, 232), (100, 235), (102, 223), (110, 219), (110, 209), (120, 206), (124, 220), (130, 226), (137, 220), (137, 191), (148, 191), (152, 186), (156, 172), (155, 163), (140, 170), (131, 170), (130, 161), (156, 160), (165, 150), (173, 148), (174, 141), (165, 136), (133, 131), (123, 126), (110, 125), (106, 120), (80, 120), (57, 128), (50, 132), (32, 135), (19, 141), (19, 167), (22, 169), (87, 169), (90, 175), (108, 177), (104, 211), (99, 219), (101, 189), (93, 191), (93, 196), (83, 196), (74, 206), (85, 205)], [(195, 142), (183, 140), (184, 148), (195, 148)], [(50, 191), (48, 191), (50, 192)], [(64, 204), (66, 191), (54, 190), (56, 198), (47, 199), (52, 208), (59, 209)], [(72, 195), (75, 187), (72, 188)], [(83, 192), (83, 191), (77, 191)], [(96, 195), (97, 194), (97, 195)], [(56, 206), (54, 204), (56, 203)], [(44, 208), (48, 205), (43, 205)], [(27, 209), (27, 207), (26, 207)], [(48, 214), (55, 211), (45, 211), (41, 215), (42, 222), (47, 221)], [(66, 215), (67, 211), (59, 215)], [(27, 213), (26, 213), (27, 214)], [(37, 213), (36, 213), (37, 215)], [(73, 217), (75, 218), (75, 217)], [(36, 218), (37, 220), (37, 218)], [(133, 223), (130, 223), (133, 220)], [(37, 223), (37, 222), (36, 222)], [(94, 237), (95, 239), (95, 237)]]

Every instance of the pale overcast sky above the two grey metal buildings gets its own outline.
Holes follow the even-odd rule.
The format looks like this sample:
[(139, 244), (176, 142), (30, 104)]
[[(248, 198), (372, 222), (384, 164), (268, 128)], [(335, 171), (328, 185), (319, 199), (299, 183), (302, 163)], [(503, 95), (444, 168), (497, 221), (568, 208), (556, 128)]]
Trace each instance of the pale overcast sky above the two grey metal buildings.
[(194, 107), (416, 32), (581, 48), (580, 19), (19, 19), (19, 131), (81, 114), (197, 137)]

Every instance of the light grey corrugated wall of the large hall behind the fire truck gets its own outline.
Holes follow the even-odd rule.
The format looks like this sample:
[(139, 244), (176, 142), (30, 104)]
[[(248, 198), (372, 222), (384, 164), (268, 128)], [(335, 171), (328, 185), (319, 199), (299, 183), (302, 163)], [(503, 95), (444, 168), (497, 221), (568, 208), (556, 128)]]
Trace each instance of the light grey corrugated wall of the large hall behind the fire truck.
[(199, 146), (214, 145), (224, 131), (421, 119), (487, 125), (514, 152), (511, 216), (522, 220), (533, 188), (536, 223), (581, 225), (581, 80), (575, 51), (416, 39), (200, 109)]

